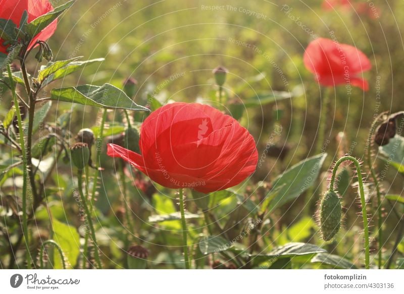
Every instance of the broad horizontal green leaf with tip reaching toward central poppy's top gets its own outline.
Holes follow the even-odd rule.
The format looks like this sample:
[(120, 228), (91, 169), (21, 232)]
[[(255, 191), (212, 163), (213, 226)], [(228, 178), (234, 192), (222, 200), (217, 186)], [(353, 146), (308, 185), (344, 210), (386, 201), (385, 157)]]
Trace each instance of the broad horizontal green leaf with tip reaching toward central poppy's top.
[(149, 111), (134, 103), (122, 90), (111, 84), (103, 86), (81, 85), (53, 89), (51, 100), (78, 103), (107, 109), (127, 109), (135, 111)]

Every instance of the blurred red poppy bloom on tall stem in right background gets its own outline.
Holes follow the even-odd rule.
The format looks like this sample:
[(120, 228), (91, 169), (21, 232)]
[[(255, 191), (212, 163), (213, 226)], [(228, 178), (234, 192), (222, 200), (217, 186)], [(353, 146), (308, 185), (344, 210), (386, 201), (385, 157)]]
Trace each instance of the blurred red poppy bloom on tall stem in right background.
[(306, 48), (304, 62), (321, 85), (350, 84), (365, 91), (369, 88), (362, 73), (370, 70), (372, 65), (365, 54), (354, 46), (318, 38)]

